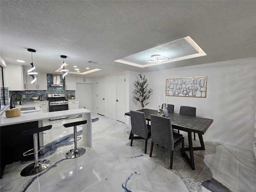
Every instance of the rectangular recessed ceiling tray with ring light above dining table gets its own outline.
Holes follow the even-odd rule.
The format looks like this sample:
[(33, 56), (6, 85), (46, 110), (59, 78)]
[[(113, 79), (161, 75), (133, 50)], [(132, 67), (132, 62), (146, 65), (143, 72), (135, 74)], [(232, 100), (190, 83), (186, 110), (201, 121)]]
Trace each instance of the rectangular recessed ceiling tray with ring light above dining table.
[[(155, 55), (156, 53), (160, 56)], [(196, 42), (194, 42), (190, 36), (187, 36), (130, 56), (126, 56), (124, 58), (115, 60), (115, 62), (144, 68), (205, 55), (206, 53), (196, 44)], [(155, 57), (150, 58), (150, 56)]]

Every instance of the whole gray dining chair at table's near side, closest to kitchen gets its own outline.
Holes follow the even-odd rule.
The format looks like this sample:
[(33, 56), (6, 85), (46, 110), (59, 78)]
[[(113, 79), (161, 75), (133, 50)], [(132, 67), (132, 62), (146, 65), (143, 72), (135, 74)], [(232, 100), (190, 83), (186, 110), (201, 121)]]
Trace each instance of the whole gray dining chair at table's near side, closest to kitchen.
[(143, 112), (130, 110), (131, 116), (131, 145), (134, 139), (134, 134), (140, 136), (141, 138), (145, 139), (145, 154), (147, 153), (147, 145), (148, 145), (148, 138), (151, 136), (151, 128), (150, 125), (146, 124), (146, 117)]

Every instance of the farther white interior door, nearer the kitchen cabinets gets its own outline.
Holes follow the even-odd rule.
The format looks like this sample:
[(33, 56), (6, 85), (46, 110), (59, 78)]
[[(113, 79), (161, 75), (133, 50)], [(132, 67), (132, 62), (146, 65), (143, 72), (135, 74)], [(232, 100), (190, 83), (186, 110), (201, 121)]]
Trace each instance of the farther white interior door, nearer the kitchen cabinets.
[(97, 79), (97, 113), (105, 116), (105, 79)]

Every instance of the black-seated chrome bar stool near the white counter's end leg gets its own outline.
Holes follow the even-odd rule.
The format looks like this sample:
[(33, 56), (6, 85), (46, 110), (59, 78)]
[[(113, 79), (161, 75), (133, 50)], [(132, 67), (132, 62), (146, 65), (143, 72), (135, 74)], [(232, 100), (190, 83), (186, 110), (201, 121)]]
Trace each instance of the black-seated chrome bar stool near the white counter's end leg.
[(80, 140), (82, 137), (77, 137), (76, 126), (86, 124), (86, 123), (87, 123), (87, 120), (77, 121), (77, 122), (72, 122), (72, 123), (66, 123), (66, 124), (63, 125), (66, 128), (74, 126), (74, 138), (71, 138), (71, 139), (74, 139), (74, 141), (70, 141), (71, 140), (70, 139), (67, 142), (74, 142), (75, 148), (66, 152), (66, 155), (65, 155), (66, 158), (68, 158), (68, 159), (77, 158), (77, 157), (82, 156), (85, 153), (85, 151), (86, 151), (85, 148), (81, 148), (81, 147), (77, 148), (77, 141)]

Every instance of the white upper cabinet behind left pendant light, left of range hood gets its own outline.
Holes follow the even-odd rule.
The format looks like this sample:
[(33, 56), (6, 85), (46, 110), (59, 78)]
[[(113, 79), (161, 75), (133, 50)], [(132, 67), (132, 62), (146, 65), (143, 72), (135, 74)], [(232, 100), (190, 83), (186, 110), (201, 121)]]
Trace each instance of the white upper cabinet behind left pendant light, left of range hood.
[(30, 83), (33, 79), (32, 76), (27, 75), (28, 89), (27, 90), (47, 90), (47, 76), (46, 74), (37, 74), (36, 81)]

